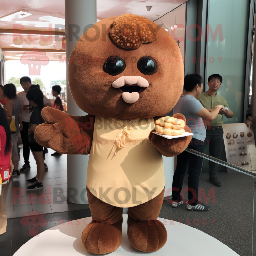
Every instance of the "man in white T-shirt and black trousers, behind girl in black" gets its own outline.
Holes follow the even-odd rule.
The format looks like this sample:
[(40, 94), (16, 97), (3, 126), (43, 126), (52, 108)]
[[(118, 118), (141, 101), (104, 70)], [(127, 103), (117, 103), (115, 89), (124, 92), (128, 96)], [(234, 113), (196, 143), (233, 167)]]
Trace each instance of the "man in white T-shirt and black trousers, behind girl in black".
[[(29, 155), (30, 155), (30, 148), (29, 148), (29, 141), (28, 141), (28, 126), (29, 126), (29, 119), (32, 114), (32, 106), (29, 105), (28, 99), (26, 94), (28, 93), (31, 87), (31, 79), (28, 76), (23, 76), (20, 78), (20, 84), (24, 89), (23, 92), (18, 94), (18, 98), (21, 102), (21, 117), (22, 117), (22, 124), (23, 130), (20, 132), (22, 143), (23, 143), (23, 157), (25, 164), (20, 169), (20, 172), (27, 171), (30, 169), (29, 165)], [(39, 86), (40, 88), (40, 86)], [(49, 99), (44, 96), (44, 105), (52, 107), (52, 104)]]

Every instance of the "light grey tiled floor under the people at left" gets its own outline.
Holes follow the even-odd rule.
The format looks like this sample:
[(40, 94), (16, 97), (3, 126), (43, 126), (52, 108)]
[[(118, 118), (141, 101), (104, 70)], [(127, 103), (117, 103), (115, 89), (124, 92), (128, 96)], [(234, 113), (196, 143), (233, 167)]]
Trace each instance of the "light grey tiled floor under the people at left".
[[(67, 212), (86, 209), (85, 204), (73, 204), (67, 201), (67, 155), (51, 156), (54, 153), (48, 149), (45, 155), (45, 163), (48, 171), (44, 174), (44, 188), (35, 191), (26, 190), (29, 183), (27, 179), (36, 176), (36, 162), (30, 153), (30, 170), (20, 173), (20, 176), (12, 177), (4, 201), (7, 210), (7, 218), (23, 217), (24, 214), (33, 211), (43, 214), (55, 212)], [(19, 169), (24, 164), (22, 149), (20, 149)]]

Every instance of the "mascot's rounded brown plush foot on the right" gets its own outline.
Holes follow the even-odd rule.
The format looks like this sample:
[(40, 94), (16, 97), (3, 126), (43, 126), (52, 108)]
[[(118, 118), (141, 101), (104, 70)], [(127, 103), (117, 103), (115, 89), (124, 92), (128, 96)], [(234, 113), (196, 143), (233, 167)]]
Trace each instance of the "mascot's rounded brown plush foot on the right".
[(155, 252), (167, 240), (167, 231), (159, 220), (139, 221), (128, 216), (127, 233), (132, 246), (142, 252)]

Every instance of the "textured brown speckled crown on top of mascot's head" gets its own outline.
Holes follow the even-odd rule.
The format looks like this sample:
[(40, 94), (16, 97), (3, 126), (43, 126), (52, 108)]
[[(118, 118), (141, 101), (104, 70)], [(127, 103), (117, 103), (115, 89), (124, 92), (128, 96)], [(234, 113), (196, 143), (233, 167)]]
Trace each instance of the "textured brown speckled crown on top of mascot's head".
[(156, 40), (156, 24), (138, 15), (123, 14), (113, 21), (112, 26), (111, 39), (124, 49), (136, 49)]

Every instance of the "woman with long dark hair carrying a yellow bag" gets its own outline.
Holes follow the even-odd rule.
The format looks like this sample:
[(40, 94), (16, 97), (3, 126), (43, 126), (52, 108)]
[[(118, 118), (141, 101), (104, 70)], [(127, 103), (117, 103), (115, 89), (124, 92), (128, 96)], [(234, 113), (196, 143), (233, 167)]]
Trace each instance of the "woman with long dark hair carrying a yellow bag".
[(17, 98), (16, 94), (16, 87), (14, 84), (5, 84), (4, 85), (4, 94), (7, 97), (6, 102), (6, 109), (7, 109), (7, 118), (9, 120), (9, 123), (12, 122), (12, 116), (14, 116), (15, 119), (15, 129), (11, 131), (11, 140), (13, 144), (12, 149), (12, 163), (14, 165), (14, 171), (12, 173), (12, 176), (20, 175), (20, 172), (18, 170), (19, 168), (19, 156), (18, 156), (18, 136), (19, 131), (22, 131), (23, 125), (22, 125), (22, 118), (21, 118), (21, 103), (20, 100)]

